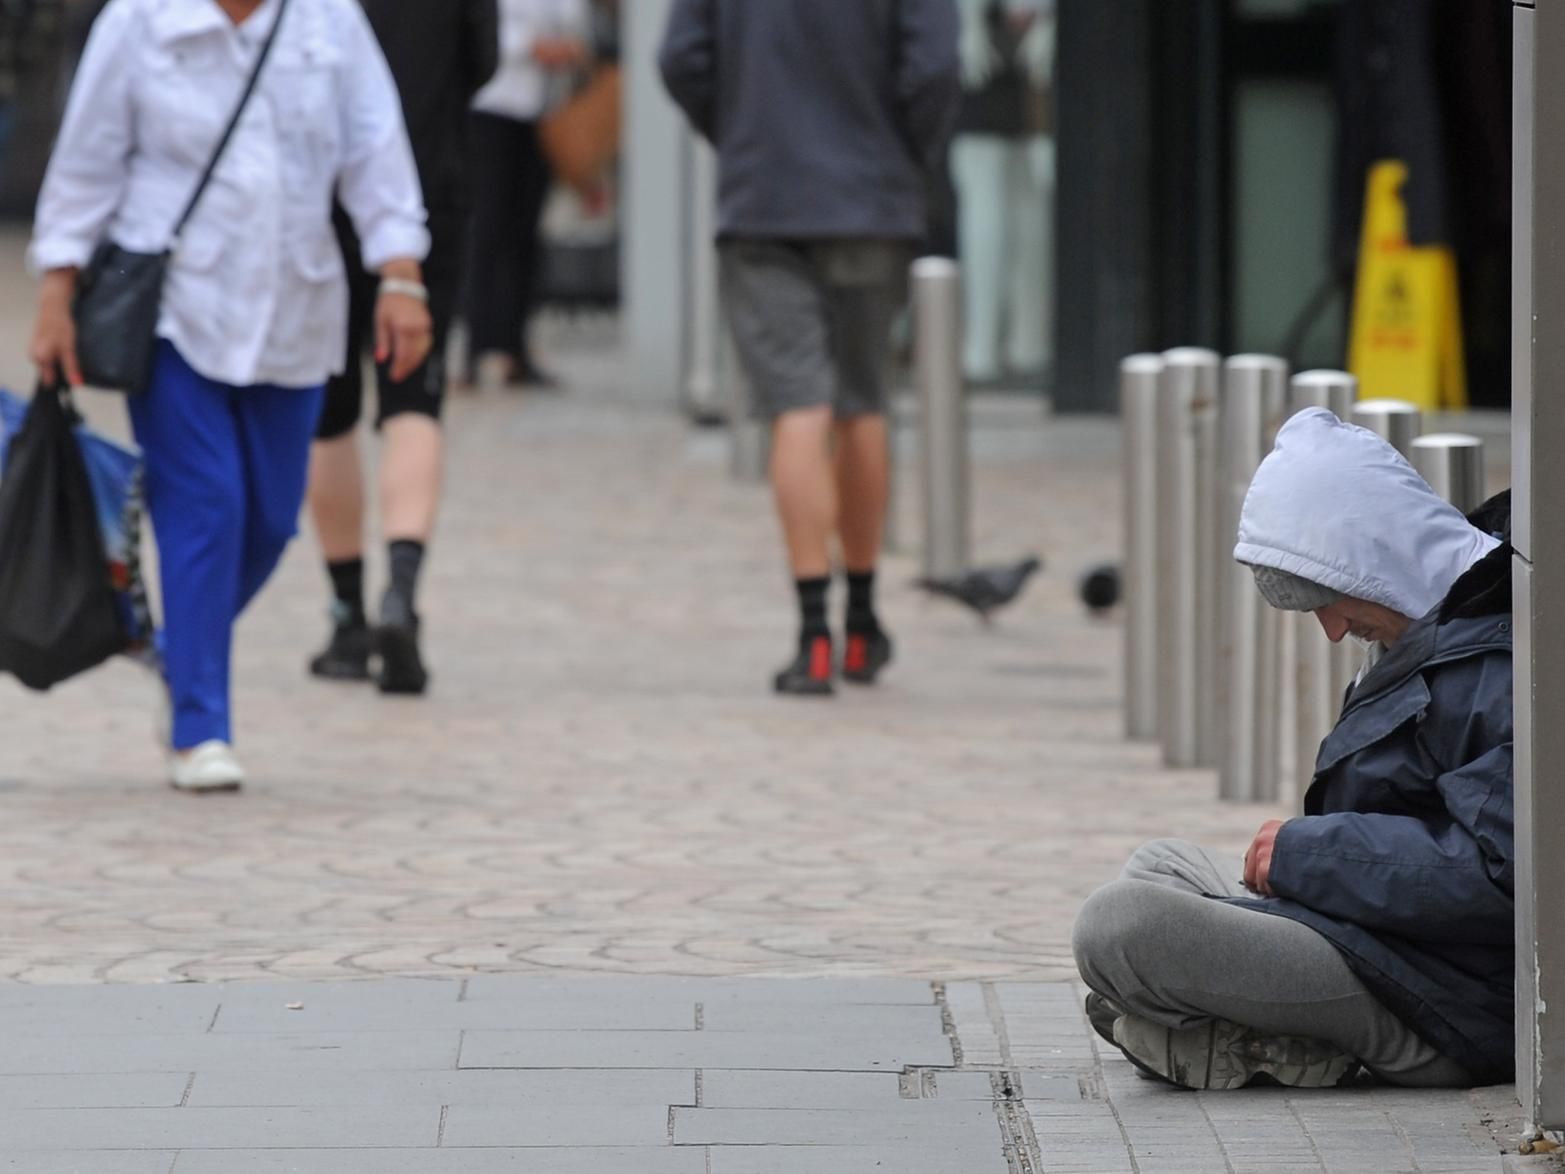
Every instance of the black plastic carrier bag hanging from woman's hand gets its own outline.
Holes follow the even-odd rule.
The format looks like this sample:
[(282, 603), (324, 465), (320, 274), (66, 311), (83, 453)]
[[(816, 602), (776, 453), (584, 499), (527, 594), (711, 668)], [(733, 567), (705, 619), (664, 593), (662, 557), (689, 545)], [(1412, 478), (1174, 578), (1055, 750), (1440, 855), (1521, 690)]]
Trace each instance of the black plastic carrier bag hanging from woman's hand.
[(59, 684), (130, 643), (74, 424), (64, 396), (39, 388), (0, 476), (0, 672), (28, 689)]

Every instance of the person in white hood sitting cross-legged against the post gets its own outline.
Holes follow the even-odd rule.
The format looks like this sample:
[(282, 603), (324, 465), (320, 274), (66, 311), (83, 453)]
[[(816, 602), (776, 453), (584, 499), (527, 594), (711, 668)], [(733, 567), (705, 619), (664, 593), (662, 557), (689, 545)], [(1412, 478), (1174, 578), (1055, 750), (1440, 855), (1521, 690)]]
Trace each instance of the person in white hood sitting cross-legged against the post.
[(1510, 502), (1473, 520), (1383, 440), (1311, 409), (1244, 499), (1235, 559), (1272, 607), (1383, 645), (1305, 816), (1243, 861), (1167, 839), (1088, 899), (1088, 1016), (1144, 1074), (1335, 1085), (1512, 1079)]

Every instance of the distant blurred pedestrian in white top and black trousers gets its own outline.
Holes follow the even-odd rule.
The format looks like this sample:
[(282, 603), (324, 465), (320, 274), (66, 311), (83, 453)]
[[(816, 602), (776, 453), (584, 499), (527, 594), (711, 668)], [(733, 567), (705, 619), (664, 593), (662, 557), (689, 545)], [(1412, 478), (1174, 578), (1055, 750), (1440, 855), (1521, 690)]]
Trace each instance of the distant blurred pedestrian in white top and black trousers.
[(480, 385), (552, 387), (527, 346), (538, 224), (552, 175), (538, 119), (587, 64), (587, 0), (499, 0), (499, 69), (473, 102), (473, 255), (466, 322)]

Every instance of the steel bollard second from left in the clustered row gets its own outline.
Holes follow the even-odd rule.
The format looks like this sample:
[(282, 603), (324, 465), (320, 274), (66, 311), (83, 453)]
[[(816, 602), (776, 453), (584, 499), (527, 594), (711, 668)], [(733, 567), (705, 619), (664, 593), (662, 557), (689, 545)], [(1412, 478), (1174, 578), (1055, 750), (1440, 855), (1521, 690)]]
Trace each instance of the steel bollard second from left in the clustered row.
[(1202, 765), (1214, 750), (1211, 723), (1211, 457), (1216, 384), (1213, 351), (1163, 355), (1158, 379), (1158, 739), (1163, 762)]

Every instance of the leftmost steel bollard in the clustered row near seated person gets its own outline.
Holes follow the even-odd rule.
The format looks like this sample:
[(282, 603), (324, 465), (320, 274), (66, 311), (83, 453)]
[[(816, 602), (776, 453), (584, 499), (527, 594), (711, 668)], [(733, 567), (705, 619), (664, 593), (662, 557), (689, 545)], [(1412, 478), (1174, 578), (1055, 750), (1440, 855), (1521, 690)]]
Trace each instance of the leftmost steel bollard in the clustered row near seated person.
[(1158, 736), (1158, 379), (1160, 355), (1119, 365), (1125, 481), (1125, 736)]

